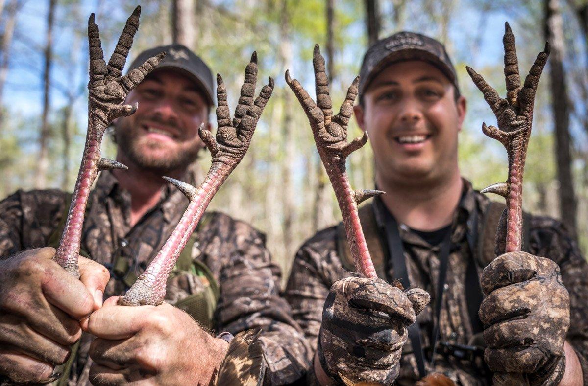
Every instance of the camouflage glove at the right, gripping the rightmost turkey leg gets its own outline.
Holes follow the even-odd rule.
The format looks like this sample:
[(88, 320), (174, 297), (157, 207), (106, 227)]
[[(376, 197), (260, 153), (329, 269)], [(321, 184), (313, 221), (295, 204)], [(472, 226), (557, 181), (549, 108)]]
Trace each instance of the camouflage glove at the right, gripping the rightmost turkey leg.
[(557, 385), (566, 367), (563, 344), (570, 297), (552, 260), (525, 252), (499, 256), (481, 278), (486, 299), (484, 353), (495, 384)]

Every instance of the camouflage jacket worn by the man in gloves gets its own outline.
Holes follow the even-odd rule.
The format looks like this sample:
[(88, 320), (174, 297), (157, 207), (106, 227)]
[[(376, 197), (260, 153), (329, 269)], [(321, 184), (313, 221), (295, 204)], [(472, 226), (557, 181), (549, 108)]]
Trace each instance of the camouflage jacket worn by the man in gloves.
[[(440, 342), (469, 344), (473, 336), (467, 310), (465, 276), (467, 263), (472, 259), (466, 239), (467, 224), (473, 211), (477, 211), (478, 224), (482, 223), (489, 199), (472, 189), (465, 182), (463, 199), (454, 216), (452, 250), (449, 255), (445, 293), (440, 312)], [(368, 204), (372, 205), (372, 204)], [(584, 382), (588, 384), (588, 265), (580, 255), (576, 243), (560, 222), (546, 217), (530, 217), (529, 252), (554, 260), (561, 269), (564, 285), (570, 293), (570, 330), (567, 341), (574, 347), (582, 364)], [(413, 287), (420, 287), (431, 294), (431, 302), (417, 317), (421, 328), (422, 347), (430, 353), (430, 336), (436, 323), (435, 299), (439, 279), (439, 246), (431, 246), (406, 225), (399, 226), (400, 238), (405, 249), (405, 261), (409, 280)], [(316, 350), (323, 304), (330, 287), (336, 280), (350, 276), (343, 268), (337, 248), (336, 227), (324, 229), (306, 241), (298, 251), (286, 287), (285, 297), (292, 306), (295, 319), (305, 331), (313, 350)], [(369, 242), (369, 237), (368, 237)], [(479, 242), (482, 242), (479, 240)], [(372, 247), (370, 246), (370, 250)], [(394, 268), (385, 262), (386, 277), (390, 282)], [(489, 262), (476, 259), (477, 272)], [(410, 346), (409, 343), (406, 346)], [(406, 347), (405, 347), (406, 348)], [(445, 373), (456, 384), (484, 385), (479, 366), (457, 360), (455, 357), (437, 354), (435, 368), (428, 371)], [(399, 385), (412, 385), (419, 380), (415, 355), (403, 350), (400, 359)]]

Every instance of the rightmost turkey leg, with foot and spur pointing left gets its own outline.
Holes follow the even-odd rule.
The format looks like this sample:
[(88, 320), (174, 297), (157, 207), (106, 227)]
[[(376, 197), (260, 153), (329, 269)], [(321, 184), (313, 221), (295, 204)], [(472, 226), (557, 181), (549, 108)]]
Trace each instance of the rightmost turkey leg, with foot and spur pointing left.
[(527, 155), (527, 145), (531, 135), (533, 123), (533, 105), (537, 84), (543, 72), (543, 67), (549, 56), (549, 43), (537, 55), (537, 59), (529, 70), (529, 75), (520, 87), (519, 62), (516, 55), (515, 35), (509, 23), (505, 23), (505, 77), (506, 99), (500, 98), (496, 90), (486, 83), (484, 78), (470, 67), (466, 67), (470, 77), (478, 89), (484, 94), (484, 99), (494, 111), (498, 128), (487, 127), (482, 124), (482, 131), (486, 136), (495, 138), (506, 147), (509, 157), (509, 178), (506, 182), (491, 185), (482, 192), (492, 192), (506, 198), (506, 248), (505, 252), (521, 250), (523, 228), (523, 170)]

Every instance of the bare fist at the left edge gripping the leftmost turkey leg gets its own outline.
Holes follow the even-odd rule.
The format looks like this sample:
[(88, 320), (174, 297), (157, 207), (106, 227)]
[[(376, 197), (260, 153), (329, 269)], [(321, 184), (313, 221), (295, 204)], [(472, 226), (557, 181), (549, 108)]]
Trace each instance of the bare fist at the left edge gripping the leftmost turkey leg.
[(108, 270), (79, 257), (80, 278), (52, 260), (54, 248), (30, 249), (0, 262), (0, 374), (46, 383), (81, 336), (81, 321), (102, 306)]

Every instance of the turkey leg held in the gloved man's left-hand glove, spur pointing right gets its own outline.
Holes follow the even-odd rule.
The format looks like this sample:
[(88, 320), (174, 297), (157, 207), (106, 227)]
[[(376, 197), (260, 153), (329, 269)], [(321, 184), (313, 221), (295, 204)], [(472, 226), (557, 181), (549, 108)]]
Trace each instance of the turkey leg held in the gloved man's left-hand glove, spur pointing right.
[(349, 184), (345, 170), (345, 159), (368, 141), (368, 133), (364, 132), (363, 137), (355, 138), (350, 143), (347, 142), (347, 126), (353, 114), (353, 102), (358, 95), (359, 76), (353, 80), (349, 87), (345, 101), (339, 109), (339, 114), (333, 116), (329, 79), (325, 72), (325, 59), (320, 55), (319, 45), (315, 45), (312, 63), (315, 68), (316, 103), (298, 80), (290, 79), (288, 71), (285, 75), (286, 83), (298, 97), (310, 121), (320, 160), (325, 165), (341, 209), (349, 249), (356, 269), (363, 276), (376, 279), (376, 270), (369, 255), (362, 225), (359, 222), (358, 204), (383, 192), (376, 190), (354, 191)]

